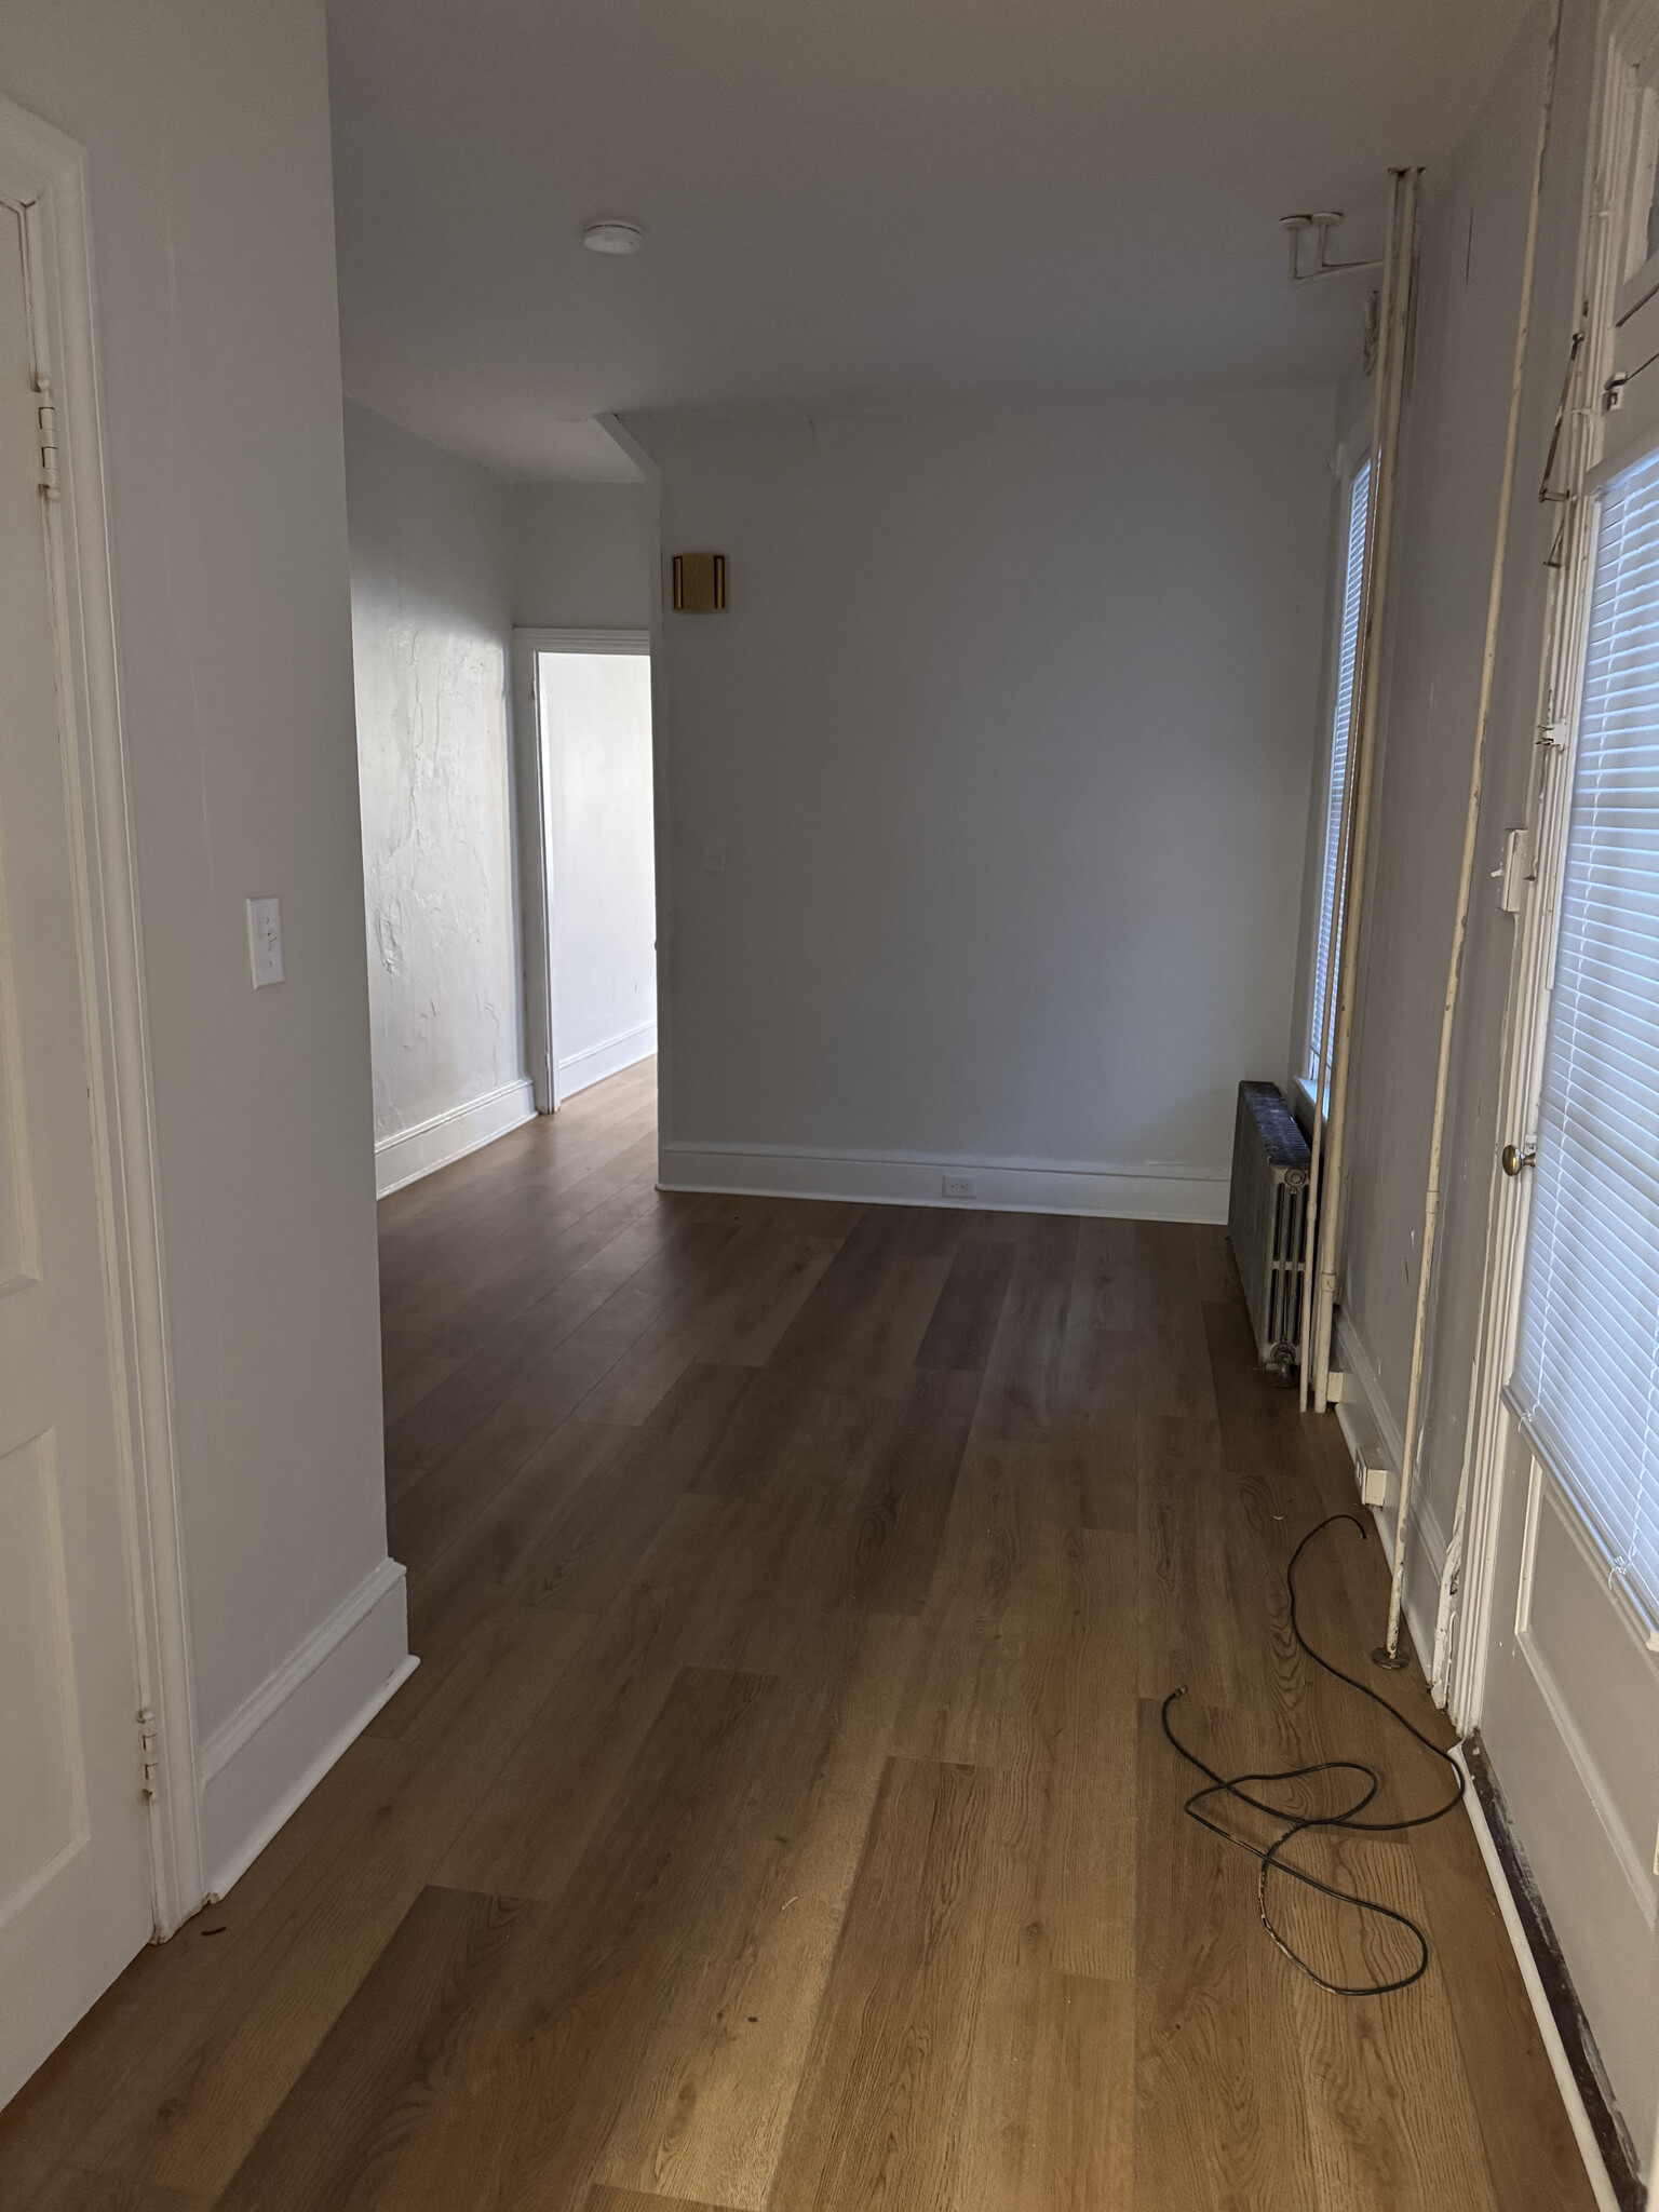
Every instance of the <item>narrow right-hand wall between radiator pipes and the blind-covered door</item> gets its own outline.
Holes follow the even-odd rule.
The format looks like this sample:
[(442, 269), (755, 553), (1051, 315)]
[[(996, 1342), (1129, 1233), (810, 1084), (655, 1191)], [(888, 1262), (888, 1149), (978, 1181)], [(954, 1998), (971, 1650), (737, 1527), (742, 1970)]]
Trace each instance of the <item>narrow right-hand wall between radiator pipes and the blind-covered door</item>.
[[(1568, 9), (1546, 168), (1533, 345), (1504, 584), (1493, 734), (1480, 821), (1447, 1128), (1440, 1270), (1429, 1338), (1413, 1621), (1431, 1630), (1451, 1533), (1480, 1318), (1502, 1020), (1513, 920), (1491, 869), (1524, 821), (1555, 509), (1537, 484), (1573, 330), (1590, 7)], [(1535, 7), (1455, 159), (1425, 179), (1418, 343), (1396, 524), (1394, 597), (1352, 1064), (1340, 1343), (1398, 1455), (1411, 1369), (1440, 1011), (1502, 480), (1504, 425), (1548, 13)], [(1358, 414), (1360, 394), (1347, 396)]]

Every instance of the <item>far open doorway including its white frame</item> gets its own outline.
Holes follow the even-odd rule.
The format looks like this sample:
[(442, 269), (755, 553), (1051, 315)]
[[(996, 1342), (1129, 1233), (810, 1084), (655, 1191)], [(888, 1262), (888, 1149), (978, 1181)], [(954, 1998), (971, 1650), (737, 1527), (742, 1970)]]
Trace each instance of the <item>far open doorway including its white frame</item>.
[(515, 630), (526, 1051), (535, 1106), (657, 1051), (646, 630)]

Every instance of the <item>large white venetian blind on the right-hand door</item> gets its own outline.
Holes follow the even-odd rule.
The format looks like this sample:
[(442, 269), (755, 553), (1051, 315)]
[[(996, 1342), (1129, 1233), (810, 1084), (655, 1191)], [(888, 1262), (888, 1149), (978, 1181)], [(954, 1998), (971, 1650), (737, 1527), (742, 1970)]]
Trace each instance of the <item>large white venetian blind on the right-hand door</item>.
[(1601, 495), (1515, 1371), (1659, 1619), (1659, 453)]

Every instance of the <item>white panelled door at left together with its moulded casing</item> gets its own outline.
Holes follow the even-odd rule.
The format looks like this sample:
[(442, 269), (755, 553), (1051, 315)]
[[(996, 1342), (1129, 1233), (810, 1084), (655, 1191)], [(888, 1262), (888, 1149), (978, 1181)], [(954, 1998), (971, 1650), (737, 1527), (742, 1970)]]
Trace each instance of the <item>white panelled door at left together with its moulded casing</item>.
[(84, 157), (0, 100), (0, 2101), (201, 1902)]

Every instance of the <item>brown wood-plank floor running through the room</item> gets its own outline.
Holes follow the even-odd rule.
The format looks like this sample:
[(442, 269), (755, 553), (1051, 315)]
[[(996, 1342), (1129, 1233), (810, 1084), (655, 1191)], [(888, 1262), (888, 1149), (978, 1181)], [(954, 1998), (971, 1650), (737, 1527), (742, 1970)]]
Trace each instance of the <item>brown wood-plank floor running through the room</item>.
[[(1234, 1770), (1442, 1783), (1290, 1644), (1352, 1480), (1221, 1232), (657, 1194), (653, 1082), (380, 1208), (422, 1666), (0, 2117), (0, 2208), (1588, 2212), (1462, 1814), (1307, 1847), (1429, 1929), (1387, 2000), (1181, 1816), (1177, 1683)], [(1385, 1597), (1310, 1555), (1349, 1668)]]

